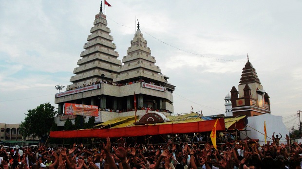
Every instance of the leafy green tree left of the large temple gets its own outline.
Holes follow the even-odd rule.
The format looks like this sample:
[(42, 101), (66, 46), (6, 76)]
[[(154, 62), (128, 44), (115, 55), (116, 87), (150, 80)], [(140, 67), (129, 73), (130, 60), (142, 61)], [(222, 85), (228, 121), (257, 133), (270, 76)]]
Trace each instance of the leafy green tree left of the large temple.
[(20, 124), (20, 132), (23, 137), (30, 135), (43, 138), (50, 132), (54, 117), (57, 114), (55, 107), (49, 102), (40, 104), (37, 108), (27, 110), (28, 114), (24, 118), (24, 122)]

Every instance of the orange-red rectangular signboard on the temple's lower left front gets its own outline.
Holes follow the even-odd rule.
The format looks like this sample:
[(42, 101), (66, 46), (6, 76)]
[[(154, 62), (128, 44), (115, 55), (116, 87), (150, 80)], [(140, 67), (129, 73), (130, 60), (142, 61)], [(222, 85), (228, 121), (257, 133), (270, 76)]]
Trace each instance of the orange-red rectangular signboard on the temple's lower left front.
[(98, 106), (65, 103), (65, 115), (98, 116)]

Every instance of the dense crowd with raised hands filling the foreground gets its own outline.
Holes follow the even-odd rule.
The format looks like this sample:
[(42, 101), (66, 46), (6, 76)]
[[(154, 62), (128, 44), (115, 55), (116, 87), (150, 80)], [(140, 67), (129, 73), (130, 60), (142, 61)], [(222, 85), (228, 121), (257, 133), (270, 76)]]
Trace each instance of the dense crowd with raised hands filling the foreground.
[(279, 143), (277, 137), (265, 145), (254, 140), (208, 143), (127, 145), (120, 138), (90, 149), (28, 147), (0, 150), (0, 169), (301, 169), (302, 144)]

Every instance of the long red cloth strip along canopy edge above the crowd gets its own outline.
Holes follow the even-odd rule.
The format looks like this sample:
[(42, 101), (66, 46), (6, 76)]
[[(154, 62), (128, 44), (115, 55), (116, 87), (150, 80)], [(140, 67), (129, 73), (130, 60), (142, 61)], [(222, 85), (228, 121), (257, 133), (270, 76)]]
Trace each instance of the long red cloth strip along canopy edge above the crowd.
[[(181, 133), (201, 133), (210, 132), (215, 124), (216, 119), (189, 123), (176, 124), (157, 124), (157, 125), (141, 125), (132, 127), (122, 127), (113, 129), (85, 129), (73, 131), (57, 131), (50, 132), (52, 138), (80, 138), (80, 137), (129, 137), (144, 135), (165, 135), (165, 134), (181, 134)], [(218, 119), (216, 124), (217, 131), (225, 131), (224, 118)]]

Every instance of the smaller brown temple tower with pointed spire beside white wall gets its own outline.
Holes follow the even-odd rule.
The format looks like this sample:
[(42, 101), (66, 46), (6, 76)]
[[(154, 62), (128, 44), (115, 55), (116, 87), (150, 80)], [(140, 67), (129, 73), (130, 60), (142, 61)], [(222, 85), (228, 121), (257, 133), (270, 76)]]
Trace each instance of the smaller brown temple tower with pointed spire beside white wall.
[(248, 55), (238, 90), (233, 86), (230, 93), (233, 117), (244, 115), (251, 117), (271, 113), (269, 96), (264, 91), (255, 68), (249, 62)]

